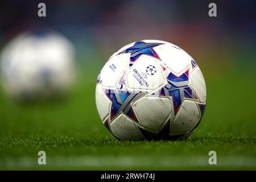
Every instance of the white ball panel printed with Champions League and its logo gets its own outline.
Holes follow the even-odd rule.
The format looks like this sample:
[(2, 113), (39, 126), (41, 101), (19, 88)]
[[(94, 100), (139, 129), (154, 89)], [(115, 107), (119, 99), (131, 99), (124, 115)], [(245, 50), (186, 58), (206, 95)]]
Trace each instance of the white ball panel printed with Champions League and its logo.
[[(163, 76), (162, 68), (158, 61), (151, 56), (140, 56), (127, 73), (129, 89), (148, 92), (167, 84), (167, 80)], [(155, 69), (152, 75), (147, 72), (147, 67), (149, 66)]]

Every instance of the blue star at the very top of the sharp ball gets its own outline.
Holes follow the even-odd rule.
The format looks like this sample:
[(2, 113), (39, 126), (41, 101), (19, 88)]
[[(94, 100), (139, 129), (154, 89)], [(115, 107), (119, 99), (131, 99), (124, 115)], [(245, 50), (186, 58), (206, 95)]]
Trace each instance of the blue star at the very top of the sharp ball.
[(156, 59), (160, 60), (160, 57), (155, 52), (153, 47), (160, 46), (162, 44), (163, 43), (145, 43), (145, 42), (142, 42), (142, 41), (141, 42), (136, 42), (136, 43), (134, 43), (134, 46), (123, 50), (122, 52), (119, 53), (119, 55), (122, 54), (122, 53), (131, 53), (131, 55), (130, 55), (130, 64), (129, 64), (130, 67), (134, 64), (134, 62), (141, 55), (152, 56), (152, 57), (155, 57)]

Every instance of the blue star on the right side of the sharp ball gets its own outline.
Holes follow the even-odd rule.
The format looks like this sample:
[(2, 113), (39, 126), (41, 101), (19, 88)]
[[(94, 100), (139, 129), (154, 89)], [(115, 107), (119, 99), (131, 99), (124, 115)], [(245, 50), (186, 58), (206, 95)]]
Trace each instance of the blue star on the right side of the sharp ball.
[(160, 96), (171, 96), (174, 104), (174, 114), (177, 114), (183, 98), (197, 99), (196, 93), (189, 87), (189, 69), (180, 76), (170, 72), (168, 84), (160, 90)]

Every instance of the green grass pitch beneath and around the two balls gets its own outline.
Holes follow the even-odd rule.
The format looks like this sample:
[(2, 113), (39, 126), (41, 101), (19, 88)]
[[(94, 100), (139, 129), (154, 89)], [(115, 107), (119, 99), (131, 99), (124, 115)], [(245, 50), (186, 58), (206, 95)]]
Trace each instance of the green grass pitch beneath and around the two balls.
[[(85, 70), (62, 101), (16, 104), (1, 90), (0, 169), (256, 169), (255, 75), (205, 74), (205, 115), (187, 140), (123, 142), (97, 114), (100, 68)], [(46, 166), (37, 163), (40, 150)], [(216, 166), (208, 163), (212, 150)]]

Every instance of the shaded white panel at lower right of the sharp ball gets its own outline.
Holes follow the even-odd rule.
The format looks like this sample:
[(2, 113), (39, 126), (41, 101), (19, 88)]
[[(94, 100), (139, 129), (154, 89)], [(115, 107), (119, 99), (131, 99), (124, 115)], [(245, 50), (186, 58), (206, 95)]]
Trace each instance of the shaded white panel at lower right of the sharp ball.
[(200, 120), (199, 109), (194, 101), (184, 100), (171, 124), (171, 135), (184, 134)]

